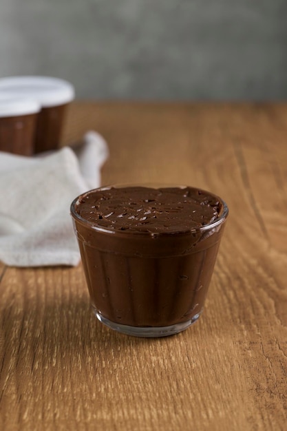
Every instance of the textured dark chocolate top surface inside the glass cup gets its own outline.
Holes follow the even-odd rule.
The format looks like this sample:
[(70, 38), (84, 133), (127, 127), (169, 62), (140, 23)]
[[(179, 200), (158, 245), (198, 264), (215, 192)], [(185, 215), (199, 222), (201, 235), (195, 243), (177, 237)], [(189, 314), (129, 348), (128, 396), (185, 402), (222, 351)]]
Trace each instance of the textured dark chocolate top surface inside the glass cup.
[(76, 204), (82, 218), (115, 231), (181, 232), (218, 218), (216, 196), (192, 187), (121, 187), (89, 191)]

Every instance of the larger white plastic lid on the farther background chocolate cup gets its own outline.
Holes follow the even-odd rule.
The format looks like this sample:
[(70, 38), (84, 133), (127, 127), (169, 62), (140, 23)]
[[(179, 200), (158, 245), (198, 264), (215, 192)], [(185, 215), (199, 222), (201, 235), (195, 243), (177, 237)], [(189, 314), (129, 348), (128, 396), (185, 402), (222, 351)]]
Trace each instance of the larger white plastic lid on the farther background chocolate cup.
[(0, 78), (0, 94), (23, 96), (38, 101), (41, 107), (64, 105), (74, 99), (72, 84), (50, 76), (10, 76)]

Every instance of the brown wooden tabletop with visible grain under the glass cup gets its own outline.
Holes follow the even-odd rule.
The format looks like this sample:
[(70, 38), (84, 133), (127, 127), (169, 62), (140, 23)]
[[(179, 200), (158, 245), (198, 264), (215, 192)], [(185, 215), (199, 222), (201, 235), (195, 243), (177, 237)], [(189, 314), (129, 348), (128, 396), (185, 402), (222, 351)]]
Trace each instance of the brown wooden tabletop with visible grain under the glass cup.
[(75, 103), (103, 184), (219, 194), (230, 216), (204, 314), (138, 339), (100, 324), (83, 269), (1, 266), (1, 430), (287, 429), (287, 105)]

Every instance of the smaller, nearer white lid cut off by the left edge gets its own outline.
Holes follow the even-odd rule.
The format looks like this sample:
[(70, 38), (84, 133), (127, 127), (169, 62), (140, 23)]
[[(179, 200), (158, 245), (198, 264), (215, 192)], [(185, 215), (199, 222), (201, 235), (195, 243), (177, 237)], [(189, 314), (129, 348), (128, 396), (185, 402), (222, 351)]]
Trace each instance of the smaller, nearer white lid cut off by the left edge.
[(0, 118), (36, 114), (41, 105), (30, 98), (3, 96), (0, 92)]

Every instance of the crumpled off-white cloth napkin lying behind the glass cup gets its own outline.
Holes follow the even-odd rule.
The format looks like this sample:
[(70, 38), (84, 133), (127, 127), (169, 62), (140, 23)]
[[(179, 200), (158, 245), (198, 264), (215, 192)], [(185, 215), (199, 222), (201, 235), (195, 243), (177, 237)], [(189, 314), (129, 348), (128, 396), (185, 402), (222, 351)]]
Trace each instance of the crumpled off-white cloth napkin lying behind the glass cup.
[(83, 144), (41, 157), (0, 151), (0, 260), (10, 266), (76, 265), (70, 217), (78, 194), (100, 186), (105, 140), (88, 132)]

